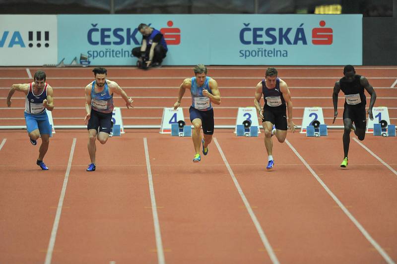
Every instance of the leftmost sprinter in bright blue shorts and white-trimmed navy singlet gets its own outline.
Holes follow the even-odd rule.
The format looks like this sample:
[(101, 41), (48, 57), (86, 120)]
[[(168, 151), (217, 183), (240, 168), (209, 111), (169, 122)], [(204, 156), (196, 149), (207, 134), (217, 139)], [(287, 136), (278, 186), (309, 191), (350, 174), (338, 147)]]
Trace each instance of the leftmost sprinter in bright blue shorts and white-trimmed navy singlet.
[(8, 107), (11, 106), (11, 97), (15, 91), (26, 95), (24, 114), (30, 143), (37, 145), (37, 139), (41, 137), (39, 157), (36, 164), (42, 170), (48, 170), (43, 158), (50, 144), (51, 125), (46, 111), (54, 109), (53, 88), (46, 83), (46, 73), (39, 70), (34, 74), (34, 82), (11, 86), (7, 97)]

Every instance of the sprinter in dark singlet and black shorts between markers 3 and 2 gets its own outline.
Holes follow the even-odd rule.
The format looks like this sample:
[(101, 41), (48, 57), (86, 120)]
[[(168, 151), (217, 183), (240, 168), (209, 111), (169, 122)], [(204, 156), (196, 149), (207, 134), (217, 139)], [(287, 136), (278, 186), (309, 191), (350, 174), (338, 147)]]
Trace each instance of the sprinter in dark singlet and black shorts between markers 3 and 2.
[[(292, 121), (291, 95), (287, 84), (277, 78), (277, 74), (276, 68), (266, 69), (265, 79), (257, 84), (254, 100), (265, 129), (265, 147), (268, 156), (266, 169), (272, 169), (274, 165), (271, 136), (275, 135), (278, 142), (283, 143), (288, 128), (295, 132), (295, 125)], [(265, 100), (264, 108), (260, 103), (262, 95)], [(288, 121), (286, 109), (288, 109)]]

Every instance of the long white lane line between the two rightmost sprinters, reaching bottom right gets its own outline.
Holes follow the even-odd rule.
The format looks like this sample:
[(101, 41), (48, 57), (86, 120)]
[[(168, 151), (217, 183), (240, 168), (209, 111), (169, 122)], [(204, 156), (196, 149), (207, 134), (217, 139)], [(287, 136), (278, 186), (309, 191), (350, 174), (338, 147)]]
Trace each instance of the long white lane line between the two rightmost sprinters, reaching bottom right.
[[(353, 138), (354, 139), (354, 138)], [(320, 179), (317, 173), (312, 169), (312, 167), (306, 162), (304, 158), (296, 151), (296, 149), (289, 143), (288, 140), (285, 140), (285, 143), (290, 147), (290, 149), (295, 153), (295, 155), (305, 164), (306, 168), (312, 173), (312, 175), (316, 178), (316, 180), (323, 186), (326, 192), (331, 196), (333, 201), (342, 209), (342, 211), (349, 217), (349, 219), (354, 223), (354, 225), (360, 230), (360, 232), (364, 235), (364, 237), (372, 244), (372, 246), (378, 251), (378, 253), (385, 259), (385, 261), (389, 264), (395, 264), (392, 258), (383, 250), (383, 248), (376, 242), (371, 235), (364, 229), (364, 227), (357, 221), (356, 218), (346, 209), (346, 207), (339, 201), (339, 199), (332, 193), (330, 188)]]

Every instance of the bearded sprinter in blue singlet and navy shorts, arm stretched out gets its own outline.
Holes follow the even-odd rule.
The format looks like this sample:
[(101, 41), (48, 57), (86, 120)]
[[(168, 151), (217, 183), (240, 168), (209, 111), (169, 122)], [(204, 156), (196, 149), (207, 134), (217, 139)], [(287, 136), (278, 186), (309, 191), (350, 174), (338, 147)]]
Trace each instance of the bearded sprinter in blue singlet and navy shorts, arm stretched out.
[(126, 102), (127, 108), (132, 106), (132, 97), (128, 98), (126, 92), (116, 83), (106, 79), (107, 70), (104, 67), (96, 67), (95, 81), (85, 87), (85, 109), (87, 114), (84, 122), (88, 130), (88, 154), (91, 163), (87, 171), (95, 170), (95, 140), (105, 144), (109, 138), (112, 127), (113, 94), (120, 95)]

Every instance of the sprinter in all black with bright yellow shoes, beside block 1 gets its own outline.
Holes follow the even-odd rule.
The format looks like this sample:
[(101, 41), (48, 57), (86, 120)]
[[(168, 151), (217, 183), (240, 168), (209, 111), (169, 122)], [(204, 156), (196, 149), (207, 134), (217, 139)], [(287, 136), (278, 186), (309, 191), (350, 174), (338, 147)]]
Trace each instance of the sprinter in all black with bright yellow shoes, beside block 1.
[[(352, 65), (346, 65), (343, 68), (344, 77), (335, 83), (332, 93), (333, 102), (333, 121), (338, 115), (338, 94), (339, 91), (345, 95), (344, 109), (343, 109), (343, 152), (344, 158), (341, 167), (346, 167), (348, 164), (347, 154), (349, 153), (350, 145), (350, 131), (353, 130), (354, 134), (359, 140), (364, 140), (365, 129), (367, 126), (367, 118), (365, 114), (366, 98), (364, 89), (371, 95), (371, 100), (368, 107), (368, 117), (374, 120), (372, 114), (372, 107), (374, 107), (376, 100), (376, 93), (372, 85), (369, 84), (367, 78), (356, 74)], [(354, 123), (354, 125), (353, 125)]]

